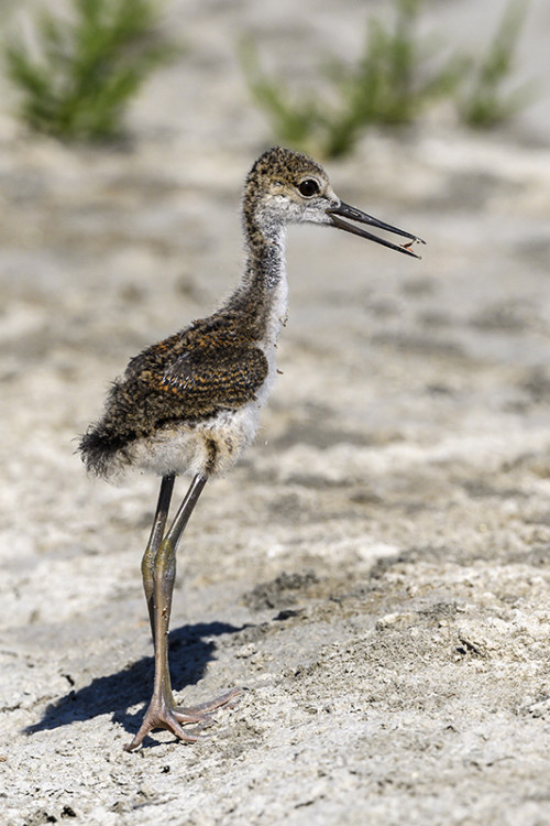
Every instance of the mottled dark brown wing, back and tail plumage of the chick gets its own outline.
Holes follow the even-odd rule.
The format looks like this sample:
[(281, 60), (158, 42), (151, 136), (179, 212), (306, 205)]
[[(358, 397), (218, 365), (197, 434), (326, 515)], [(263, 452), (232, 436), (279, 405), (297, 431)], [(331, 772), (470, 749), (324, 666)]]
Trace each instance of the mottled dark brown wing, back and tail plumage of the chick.
[(267, 359), (239, 314), (219, 312), (135, 356), (114, 381), (103, 419), (82, 437), (88, 469), (109, 476), (131, 445), (185, 422), (193, 427), (252, 402)]

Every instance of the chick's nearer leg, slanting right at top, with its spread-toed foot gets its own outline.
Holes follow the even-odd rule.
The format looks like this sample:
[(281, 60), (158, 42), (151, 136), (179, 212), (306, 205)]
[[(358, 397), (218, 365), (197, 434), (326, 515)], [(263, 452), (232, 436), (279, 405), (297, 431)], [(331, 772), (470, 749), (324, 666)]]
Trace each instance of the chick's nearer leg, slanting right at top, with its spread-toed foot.
[(199, 737), (198, 732), (186, 731), (182, 724), (199, 722), (207, 725), (210, 721), (208, 713), (229, 703), (239, 693), (238, 691), (231, 691), (209, 703), (202, 703), (200, 706), (193, 708), (178, 708), (172, 694), (168, 669), (168, 626), (176, 578), (176, 548), (206, 481), (207, 477), (200, 475), (195, 477), (170, 529), (156, 552), (153, 570), (153, 639), (155, 643), (153, 696), (140, 730), (132, 742), (124, 747), (125, 751), (138, 748), (144, 737), (154, 728), (168, 729), (180, 740), (194, 742)]

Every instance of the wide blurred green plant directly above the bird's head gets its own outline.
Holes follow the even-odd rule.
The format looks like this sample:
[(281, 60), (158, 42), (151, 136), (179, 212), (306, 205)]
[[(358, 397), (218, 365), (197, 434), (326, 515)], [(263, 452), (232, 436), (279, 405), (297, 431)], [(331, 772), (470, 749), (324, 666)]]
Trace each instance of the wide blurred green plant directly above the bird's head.
[(346, 65), (333, 58), (321, 69), (331, 87), (326, 98), (293, 102), (288, 89), (262, 72), (255, 50), (245, 43), (241, 61), (250, 90), (278, 137), (328, 156), (342, 155), (367, 126), (410, 123), (435, 100), (453, 94), (464, 62), (452, 57), (438, 68), (429, 65), (435, 54), (416, 33), (421, 3), (395, 0), (391, 25), (373, 18), (359, 62)]

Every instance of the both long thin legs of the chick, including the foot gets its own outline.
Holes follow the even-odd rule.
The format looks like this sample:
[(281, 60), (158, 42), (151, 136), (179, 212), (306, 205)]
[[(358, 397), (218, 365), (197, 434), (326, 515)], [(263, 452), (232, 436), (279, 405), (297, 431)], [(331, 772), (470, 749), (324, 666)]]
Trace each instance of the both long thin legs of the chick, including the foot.
[[(197, 475), (195, 477), (172, 526), (164, 537), (163, 532), (174, 487), (174, 476), (164, 477), (161, 485), (155, 521), (142, 561), (143, 587), (150, 610), (155, 648), (155, 682), (153, 696), (140, 730), (132, 742), (124, 746), (124, 751), (136, 749), (144, 737), (154, 728), (168, 729), (180, 740), (195, 742), (199, 738), (200, 728), (211, 721), (208, 713), (229, 703), (239, 694), (238, 689), (233, 689), (210, 702), (190, 708), (179, 708), (172, 694), (168, 667), (168, 627), (176, 578), (176, 550), (206, 481), (207, 477), (205, 476)], [(186, 731), (182, 726), (186, 722), (198, 722), (199, 726), (193, 731)]]

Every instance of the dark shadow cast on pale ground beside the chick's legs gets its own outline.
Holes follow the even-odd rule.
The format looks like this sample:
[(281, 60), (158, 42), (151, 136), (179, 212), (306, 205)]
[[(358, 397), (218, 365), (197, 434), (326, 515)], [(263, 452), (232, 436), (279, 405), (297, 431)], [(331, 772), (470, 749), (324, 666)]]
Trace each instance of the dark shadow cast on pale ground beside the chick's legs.
[[(182, 626), (169, 635), (170, 676), (175, 691), (195, 685), (205, 675), (208, 663), (215, 659), (216, 643), (208, 638), (238, 633), (244, 626), (227, 622), (200, 622)], [(205, 639), (207, 638), (207, 639)], [(132, 665), (108, 676), (96, 677), (89, 685), (72, 689), (51, 703), (38, 722), (23, 729), (26, 735), (68, 726), (77, 720), (89, 720), (102, 714), (112, 714), (127, 731), (134, 731), (143, 709), (131, 714), (128, 708), (150, 699), (153, 684), (154, 659), (143, 656)], [(67, 676), (70, 682), (70, 677)], [(113, 708), (119, 709), (113, 711)]]

